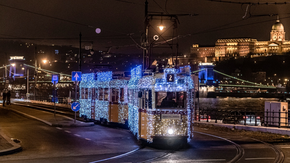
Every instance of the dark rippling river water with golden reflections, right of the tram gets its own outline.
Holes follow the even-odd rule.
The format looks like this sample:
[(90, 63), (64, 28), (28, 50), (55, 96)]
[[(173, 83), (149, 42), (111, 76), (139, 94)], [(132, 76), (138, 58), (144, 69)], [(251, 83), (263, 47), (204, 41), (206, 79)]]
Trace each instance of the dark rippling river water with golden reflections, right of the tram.
[(218, 110), (248, 110), (264, 111), (265, 101), (278, 101), (276, 98), (237, 98), (237, 97), (217, 97), (200, 98), (200, 109)]

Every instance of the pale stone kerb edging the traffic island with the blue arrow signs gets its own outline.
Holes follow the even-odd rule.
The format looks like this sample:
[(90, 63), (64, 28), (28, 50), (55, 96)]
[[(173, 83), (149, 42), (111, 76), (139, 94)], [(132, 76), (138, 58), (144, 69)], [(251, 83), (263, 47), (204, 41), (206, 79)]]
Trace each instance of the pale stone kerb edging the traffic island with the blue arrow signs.
[[(28, 117), (28, 118), (37, 119), (37, 120), (39, 120), (39, 121), (41, 121), (41, 122), (44, 122), (44, 123), (46, 123), (46, 124), (48, 124), (48, 125), (50, 125), (50, 126), (53, 126), (53, 127), (87, 127), (87, 126), (94, 126), (94, 125), (95, 125), (93, 122), (81, 122), (81, 121), (78, 121), (78, 120), (76, 120), (76, 121), (77, 121), (77, 122), (81, 122), (81, 124), (52, 124), (52, 123), (47, 122), (47, 121), (45, 121), (45, 120), (43, 120), (43, 119), (40, 119), (40, 118), (34, 117), (34, 116), (32, 116), (32, 115), (28, 115), (28, 114), (26, 114), (26, 113), (22, 113), (22, 112), (20, 112), (20, 111), (17, 111), (17, 110), (11, 109), (11, 108), (4, 108), (4, 107), (2, 107), (2, 108), (3, 108), (3, 109), (10, 110), (10, 111), (13, 111), (13, 112), (18, 113), (18, 114), (22, 114), (22, 115), (24, 115), (25, 117)], [(28, 108), (28, 109), (31, 109), (31, 108)], [(43, 112), (44, 112), (44, 111), (43, 111)], [(48, 112), (46, 112), (46, 113), (48, 113)], [(53, 113), (50, 113), (50, 114), (53, 114)], [(59, 116), (66, 117), (66, 116), (64, 116), (64, 115), (59, 115)], [(68, 118), (68, 119), (73, 119), (73, 118), (70, 118), (70, 117), (66, 117), (66, 118)], [(74, 120), (74, 119), (73, 119), (73, 120)]]

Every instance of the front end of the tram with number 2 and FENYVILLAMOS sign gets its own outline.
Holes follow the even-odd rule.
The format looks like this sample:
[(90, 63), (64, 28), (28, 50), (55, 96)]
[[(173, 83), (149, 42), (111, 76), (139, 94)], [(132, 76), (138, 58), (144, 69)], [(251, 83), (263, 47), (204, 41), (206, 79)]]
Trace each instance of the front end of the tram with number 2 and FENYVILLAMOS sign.
[[(139, 138), (169, 146), (189, 141), (191, 77), (179, 75), (175, 68), (165, 68), (164, 73), (142, 78), (138, 93)], [(144, 84), (144, 79), (152, 80), (150, 86)]]

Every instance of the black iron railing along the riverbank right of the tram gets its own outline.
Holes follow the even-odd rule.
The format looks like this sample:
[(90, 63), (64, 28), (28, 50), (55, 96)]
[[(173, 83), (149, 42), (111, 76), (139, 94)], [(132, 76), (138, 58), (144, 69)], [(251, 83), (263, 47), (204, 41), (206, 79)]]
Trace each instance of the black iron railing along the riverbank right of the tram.
[(254, 126), (288, 127), (288, 112), (275, 111), (249, 111), (249, 110), (218, 110), (200, 109), (195, 110), (194, 120), (223, 124), (243, 124)]

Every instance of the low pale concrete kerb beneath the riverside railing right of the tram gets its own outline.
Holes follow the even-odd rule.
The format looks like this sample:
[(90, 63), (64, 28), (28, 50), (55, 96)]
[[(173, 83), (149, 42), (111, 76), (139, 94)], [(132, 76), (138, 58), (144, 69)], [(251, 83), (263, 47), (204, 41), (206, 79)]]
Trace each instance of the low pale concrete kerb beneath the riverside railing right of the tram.
[(276, 127), (264, 127), (264, 126), (244, 126), (244, 125), (234, 125), (234, 124), (218, 124), (218, 123), (210, 123), (210, 122), (198, 122), (193, 121), (194, 123), (203, 124), (203, 125), (214, 125), (219, 127), (226, 128), (235, 128), (237, 130), (246, 130), (246, 131), (258, 131), (263, 133), (273, 133), (273, 134), (281, 134), (290, 136), (289, 128), (276, 128)]

